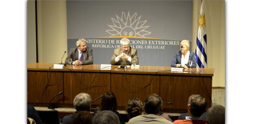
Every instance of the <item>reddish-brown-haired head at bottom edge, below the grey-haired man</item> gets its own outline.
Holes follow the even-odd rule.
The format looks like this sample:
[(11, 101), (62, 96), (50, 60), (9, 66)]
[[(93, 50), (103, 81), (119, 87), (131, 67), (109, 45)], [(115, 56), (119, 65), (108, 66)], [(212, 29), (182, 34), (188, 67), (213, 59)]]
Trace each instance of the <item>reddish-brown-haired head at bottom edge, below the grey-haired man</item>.
[(73, 124), (92, 124), (92, 114), (87, 111), (79, 111), (72, 122)]

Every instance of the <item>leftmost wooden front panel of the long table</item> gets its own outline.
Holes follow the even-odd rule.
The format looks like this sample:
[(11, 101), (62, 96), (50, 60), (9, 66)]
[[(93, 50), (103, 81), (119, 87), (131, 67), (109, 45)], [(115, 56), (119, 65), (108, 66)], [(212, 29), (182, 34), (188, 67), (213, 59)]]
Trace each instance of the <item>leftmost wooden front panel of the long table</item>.
[[(43, 103), (48, 103), (59, 92), (63, 91), (63, 73), (62, 72), (51, 72), (48, 73), (49, 84), (41, 97), (44, 88), (46, 87), (47, 72), (27, 72), (27, 91), (28, 91), (28, 102), (36, 102), (39, 100)], [(52, 100), (52, 103), (63, 103), (63, 95), (59, 95)]]

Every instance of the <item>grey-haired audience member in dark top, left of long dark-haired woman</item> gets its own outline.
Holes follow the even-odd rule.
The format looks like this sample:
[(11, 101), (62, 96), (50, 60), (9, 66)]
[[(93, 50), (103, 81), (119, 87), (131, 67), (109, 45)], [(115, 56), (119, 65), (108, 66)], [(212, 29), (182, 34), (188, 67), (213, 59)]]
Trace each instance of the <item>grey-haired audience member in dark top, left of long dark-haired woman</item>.
[(62, 124), (72, 124), (72, 119), (79, 111), (90, 112), (91, 108), (91, 96), (87, 93), (80, 93), (74, 98), (74, 107), (76, 111), (73, 114), (66, 115), (63, 118)]

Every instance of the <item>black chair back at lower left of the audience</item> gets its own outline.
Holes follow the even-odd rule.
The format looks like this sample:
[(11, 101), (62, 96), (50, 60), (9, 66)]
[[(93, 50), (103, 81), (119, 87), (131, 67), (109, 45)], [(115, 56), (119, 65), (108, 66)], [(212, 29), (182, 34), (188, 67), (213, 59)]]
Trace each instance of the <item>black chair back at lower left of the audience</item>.
[(60, 124), (59, 112), (57, 110), (37, 111), (37, 113), (43, 124)]

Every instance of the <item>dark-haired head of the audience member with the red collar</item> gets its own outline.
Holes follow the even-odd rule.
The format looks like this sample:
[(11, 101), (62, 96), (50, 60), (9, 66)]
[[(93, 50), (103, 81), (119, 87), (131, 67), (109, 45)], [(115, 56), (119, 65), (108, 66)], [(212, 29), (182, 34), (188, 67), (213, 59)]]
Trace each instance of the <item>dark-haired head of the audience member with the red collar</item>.
[(188, 99), (188, 113), (193, 117), (200, 117), (206, 109), (207, 101), (201, 95), (192, 95), (191, 99)]

